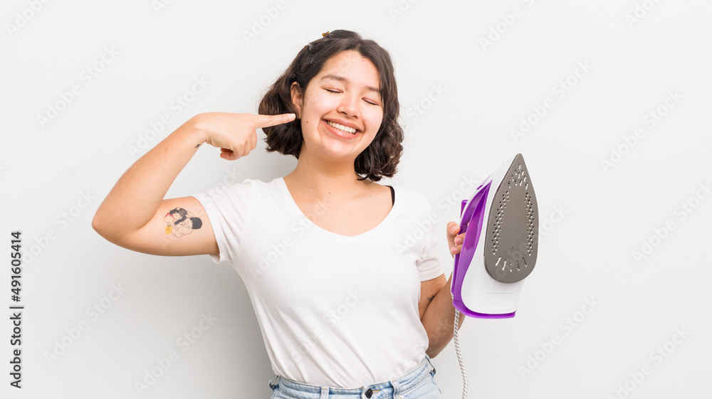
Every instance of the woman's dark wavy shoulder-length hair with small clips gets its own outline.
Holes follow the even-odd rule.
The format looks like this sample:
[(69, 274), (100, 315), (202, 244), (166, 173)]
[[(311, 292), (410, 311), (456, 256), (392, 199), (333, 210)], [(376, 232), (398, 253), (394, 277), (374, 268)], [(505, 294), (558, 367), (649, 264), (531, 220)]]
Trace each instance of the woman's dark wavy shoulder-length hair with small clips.
[[(260, 101), (258, 112), (262, 115), (296, 113), (290, 93), (292, 83), (298, 83), (298, 90), (304, 92), (312, 78), (320, 73), (324, 63), (346, 50), (357, 51), (375, 65), (380, 76), (379, 90), (383, 105), (383, 119), (373, 142), (354, 161), (356, 173), (362, 176), (358, 180), (379, 181), (383, 176), (393, 177), (403, 152), (403, 129), (398, 123), (398, 90), (390, 55), (375, 41), (363, 39), (352, 31), (324, 33), (323, 38), (301, 49), (289, 67), (268, 88)], [(300, 119), (263, 127), (262, 130), (267, 135), (267, 151), (278, 151), (299, 159), (303, 142)]]

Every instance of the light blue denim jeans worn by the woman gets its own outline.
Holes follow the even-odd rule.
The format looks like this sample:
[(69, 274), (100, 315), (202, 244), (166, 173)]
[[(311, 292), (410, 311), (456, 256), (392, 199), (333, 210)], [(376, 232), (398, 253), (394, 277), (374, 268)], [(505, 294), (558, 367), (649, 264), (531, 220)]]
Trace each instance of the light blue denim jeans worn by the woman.
[(269, 387), (273, 392), (271, 399), (442, 399), (434, 376), (435, 368), (426, 356), (415, 370), (400, 378), (361, 388), (330, 388), (298, 383), (281, 376), (272, 378)]

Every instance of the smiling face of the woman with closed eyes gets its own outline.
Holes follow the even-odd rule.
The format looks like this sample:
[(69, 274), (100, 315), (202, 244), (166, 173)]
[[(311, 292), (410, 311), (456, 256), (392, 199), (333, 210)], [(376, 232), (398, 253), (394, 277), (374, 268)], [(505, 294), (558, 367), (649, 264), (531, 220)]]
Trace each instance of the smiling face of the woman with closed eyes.
[[(354, 50), (333, 55), (304, 90), (292, 85), (292, 102), (301, 118), (300, 152), (353, 160), (376, 137), (383, 119), (375, 65)], [(340, 125), (340, 126), (337, 126)]]

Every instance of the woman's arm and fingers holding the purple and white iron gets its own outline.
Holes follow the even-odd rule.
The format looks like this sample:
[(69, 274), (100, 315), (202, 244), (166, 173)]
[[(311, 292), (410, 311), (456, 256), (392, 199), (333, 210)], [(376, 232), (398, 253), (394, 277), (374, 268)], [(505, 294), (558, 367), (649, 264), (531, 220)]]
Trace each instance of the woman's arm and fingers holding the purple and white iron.
[[(455, 257), (460, 253), (462, 248), (462, 240), (465, 233), (457, 235), (460, 231), (460, 226), (455, 222), (450, 222), (447, 225), (447, 240), (450, 254)], [(420, 284), (420, 303), (418, 309), (420, 311), (420, 320), (428, 333), (428, 350), (426, 354), (431, 358), (442, 351), (453, 336), (453, 326), (455, 323), (455, 308), (452, 306), (452, 297), (450, 294), (450, 284), (452, 274), (449, 280), (445, 280), (445, 275), (436, 277), (432, 280), (426, 280)], [(460, 322), (458, 329), (462, 325), (465, 317), (460, 314)]]

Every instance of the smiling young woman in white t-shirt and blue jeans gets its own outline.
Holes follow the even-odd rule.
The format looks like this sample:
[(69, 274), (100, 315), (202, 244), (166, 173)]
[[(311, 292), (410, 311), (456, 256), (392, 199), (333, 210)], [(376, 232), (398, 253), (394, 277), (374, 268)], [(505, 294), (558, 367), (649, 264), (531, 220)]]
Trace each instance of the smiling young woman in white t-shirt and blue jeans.
[[(389, 54), (357, 33), (327, 32), (299, 51), (258, 112), (189, 119), (126, 171), (93, 228), (131, 250), (229, 262), (276, 373), (272, 398), (441, 398), (429, 358), (451, 340), (456, 311), (430, 206), (422, 193), (377, 183), (402, 152)], [(164, 199), (201, 144), (239, 159), (256, 148), (258, 128), (268, 151), (298, 159), (290, 174)], [(458, 232), (447, 225), (453, 256)]]

